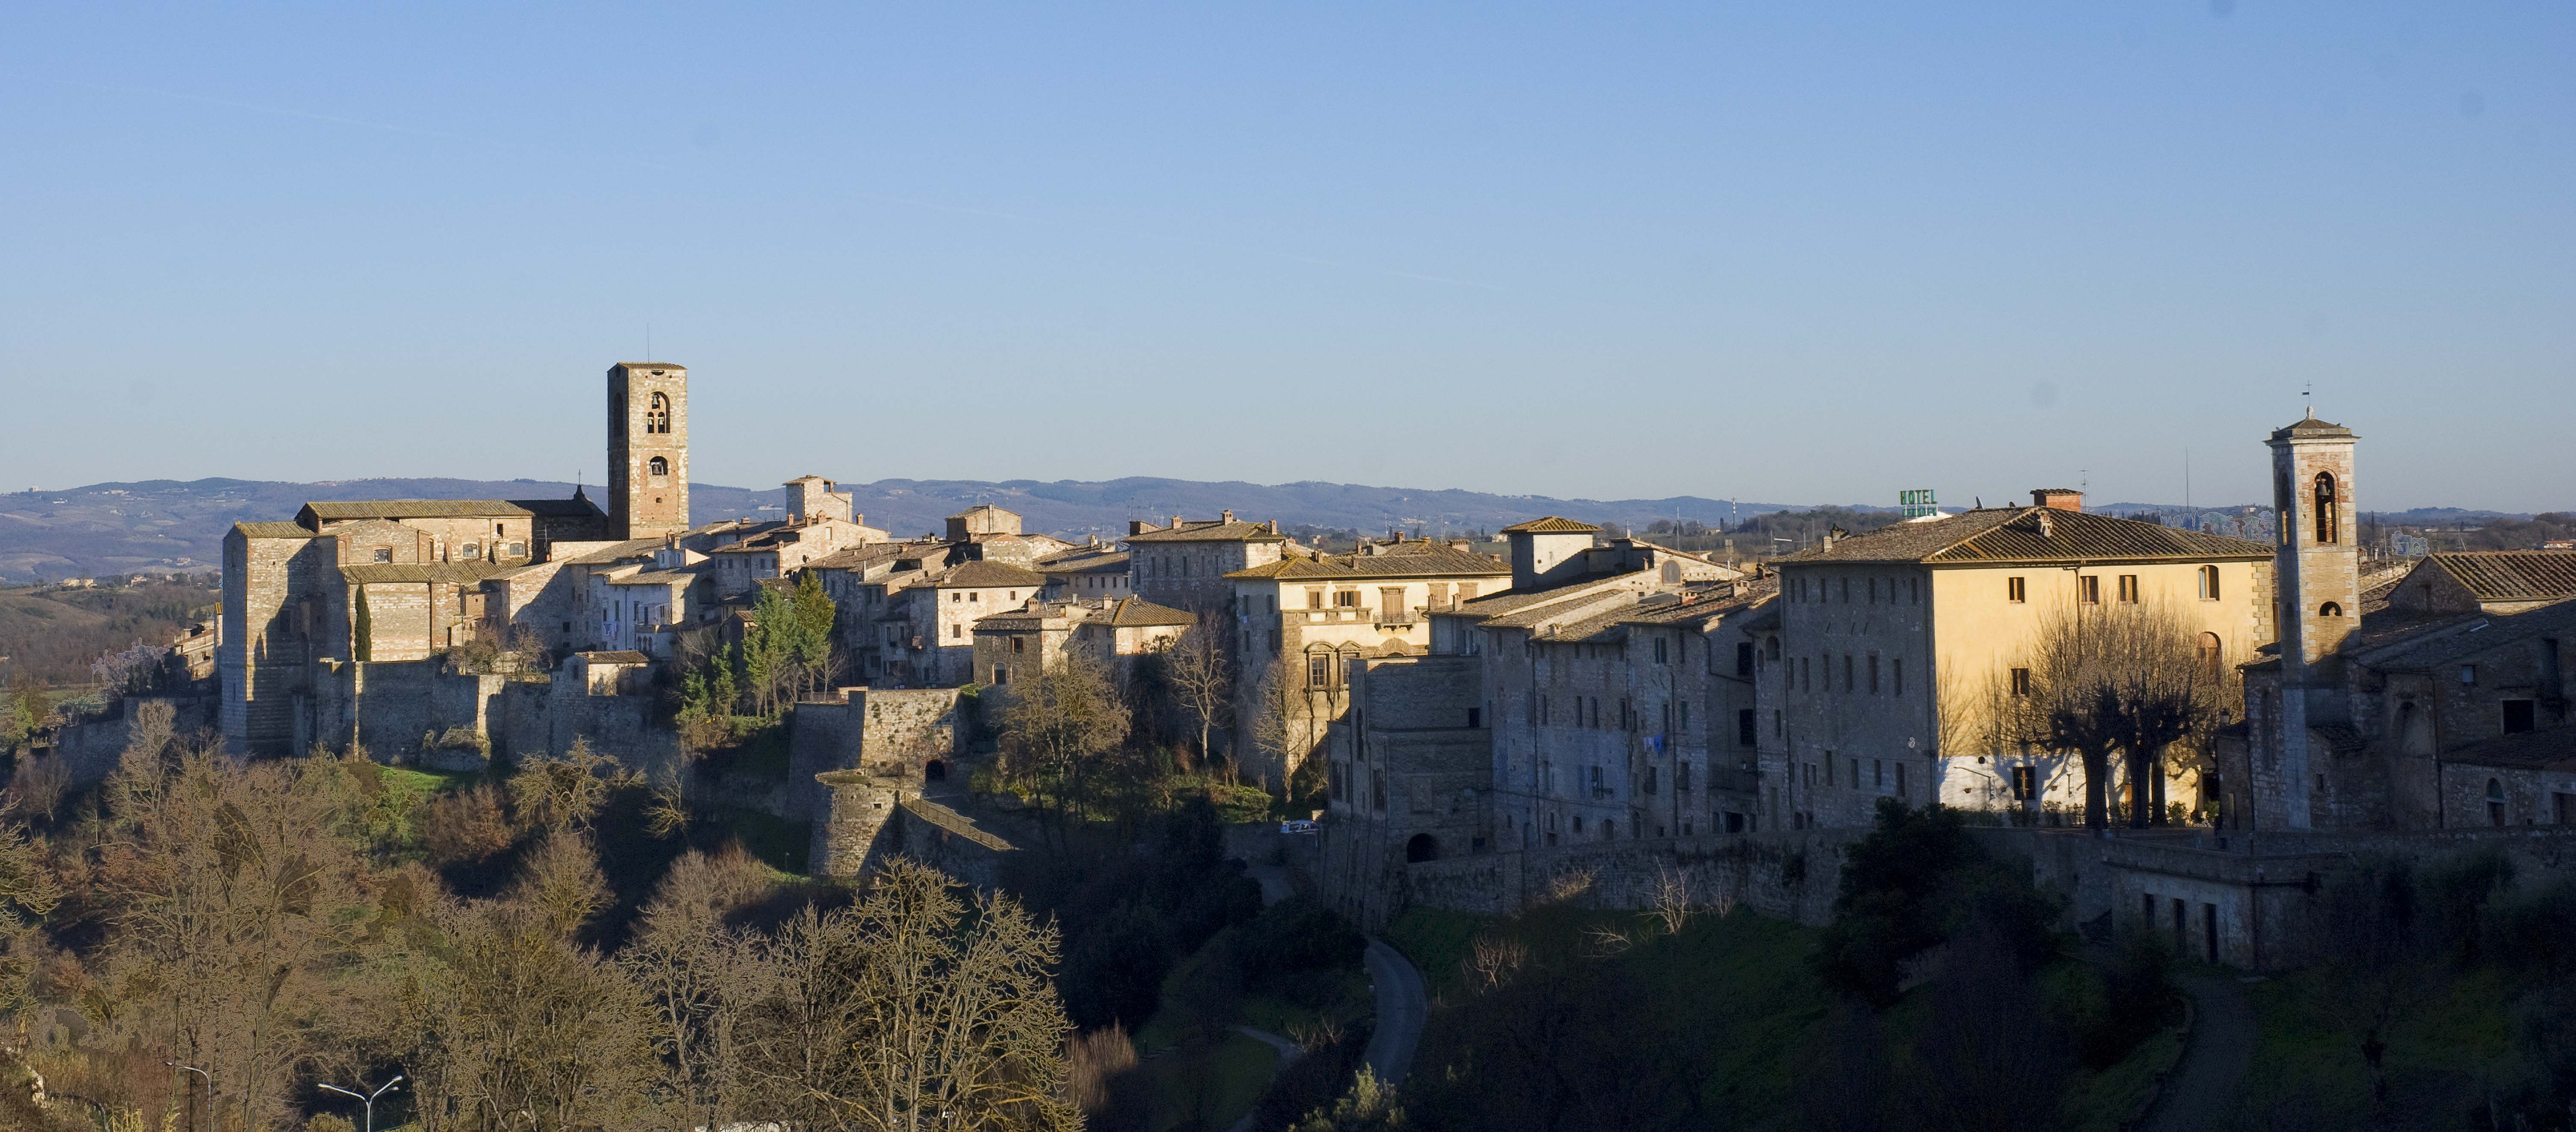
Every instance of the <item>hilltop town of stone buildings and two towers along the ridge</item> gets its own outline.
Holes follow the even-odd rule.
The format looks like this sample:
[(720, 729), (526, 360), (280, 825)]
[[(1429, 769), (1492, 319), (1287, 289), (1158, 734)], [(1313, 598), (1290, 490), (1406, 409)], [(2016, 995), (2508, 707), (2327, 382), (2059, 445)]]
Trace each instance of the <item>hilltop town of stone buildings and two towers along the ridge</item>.
[[(1327, 547), (1221, 508), (1059, 536), (992, 503), (904, 536), (817, 474), (775, 518), (693, 523), (690, 395), (677, 364), (608, 369), (598, 495), (234, 523), (219, 616), (49, 732), (13, 704), (13, 743), (46, 732), (13, 797), (59, 807), (126, 774), (139, 735), (201, 727), (234, 758), (507, 779), (515, 799), (531, 774), (595, 779), (796, 874), (871, 890), (927, 864), (1028, 900), (1123, 859), (1118, 823), (1208, 807), (1193, 869), (1213, 872), (1190, 884), (1249, 869), (1273, 913), (1347, 933), (1347, 972), (1378, 939), (1376, 1000), (1321, 1016), (1381, 1037), (1327, 1042), (1324, 1086), (1280, 1060), (1291, 1114), (1358, 1070), (1404, 1078), (1422, 1029), (1386, 995), (1453, 985), (1445, 964), (1502, 985), (1502, 951), (1461, 959), (1440, 923), (1582, 908), (1680, 936), (1716, 910), (1834, 954), (1862, 931), (1873, 846), (1953, 838), (2027, 892), (2030, 931), (2287, 975), (2349, 957), (2388, 869), (2494, 861), (2535, 892), (2576, 848), (2576, 549), (2365, 531), (2362, 436), (2316, 415), (2246, 438), (2277, 490), (2262, 513), (2169, 526), (2038, 487), (1739, 554), (1584, 516)], [(451, 877), (510, 859), (430, 854)], [(1113, 908), (1056, 905), (1079, 1026), (1198, 1000), (1206, 949), (1242, 946), (1226, 931), (1260, 903), (1157, 928), (1128, 975), (1092, 933), (1144, 913)], [(1605, 954), (1633, 944), (1613, 936)], [(1821, 970), (1893, 1000), (1922, 946)], [(1311, 993), (1293, 985), (1267, 993)], [(2105, 1039), (2102, 1068), (2148, 1057), (2148, 1029)]]

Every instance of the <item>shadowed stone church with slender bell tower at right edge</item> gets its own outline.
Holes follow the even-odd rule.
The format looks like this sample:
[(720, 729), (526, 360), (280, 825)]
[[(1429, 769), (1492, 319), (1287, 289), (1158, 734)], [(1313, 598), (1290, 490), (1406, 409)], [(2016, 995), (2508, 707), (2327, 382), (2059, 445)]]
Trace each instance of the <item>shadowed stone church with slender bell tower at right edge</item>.
[(2249, 830), (2465, 830), (2576, 817), (2568, 650), (2576, 554), (2429, 554), (2360, 588), (2357, 436), (2313, 415), (2272, 433), (2285, 632), (2246, 665), (2226, 732)]

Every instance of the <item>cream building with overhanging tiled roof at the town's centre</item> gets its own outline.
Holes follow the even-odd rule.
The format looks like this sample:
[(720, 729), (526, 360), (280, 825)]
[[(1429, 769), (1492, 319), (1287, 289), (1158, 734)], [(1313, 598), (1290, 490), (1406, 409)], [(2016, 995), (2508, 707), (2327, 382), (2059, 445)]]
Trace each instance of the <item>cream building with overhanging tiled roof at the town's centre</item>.
[[(1285, 554), (1224, 575), (1234, 583), (1226, 650), (1236, 670), (1236, 743), (1255, 776), (1288, 781), (1350, 709), (1358, 658), (1419, 655), (1430, 611), (1510, 585), (1512, 570), (1463, 544), (1396, 536), (1350, 554)], [(1267, 719), (1267, 722), (1265, 722)], [(1249, 743), (1267, 730), (1267, 748)]]

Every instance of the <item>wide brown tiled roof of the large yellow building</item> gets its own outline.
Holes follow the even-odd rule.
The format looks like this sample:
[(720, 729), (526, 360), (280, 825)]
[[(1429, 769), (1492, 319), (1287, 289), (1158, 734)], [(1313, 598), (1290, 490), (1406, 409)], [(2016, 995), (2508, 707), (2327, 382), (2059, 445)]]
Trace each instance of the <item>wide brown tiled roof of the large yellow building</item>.
[(2272, 547), (2136, 518), (2056, 508), (1986, 508), (1950, 518), (1893, 523), (1832, 547), (1808, 547), (1780, 565), (1816, 562), (2130, 562), (2267, 560)]

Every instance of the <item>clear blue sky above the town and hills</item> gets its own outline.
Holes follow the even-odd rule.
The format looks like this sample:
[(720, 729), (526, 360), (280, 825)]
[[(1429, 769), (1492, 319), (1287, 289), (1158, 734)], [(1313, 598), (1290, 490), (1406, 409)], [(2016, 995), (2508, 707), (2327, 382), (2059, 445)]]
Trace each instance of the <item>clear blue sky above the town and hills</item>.
[[(232, 8), (232, 5), (227, 5)], [(536, 10), (544, 8), (544, 10)], [(2576, 8), (0, 10), (0, 485), (2576, 505)]]

